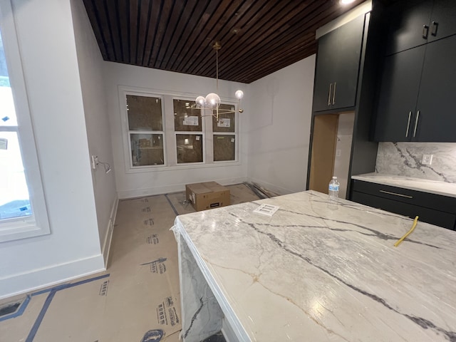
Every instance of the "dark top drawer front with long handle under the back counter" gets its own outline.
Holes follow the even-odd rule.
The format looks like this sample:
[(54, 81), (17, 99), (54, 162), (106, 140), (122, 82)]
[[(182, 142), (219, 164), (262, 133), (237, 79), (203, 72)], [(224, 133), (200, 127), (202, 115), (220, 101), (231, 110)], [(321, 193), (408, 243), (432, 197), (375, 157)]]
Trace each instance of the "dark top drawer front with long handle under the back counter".
[(352, 191), (363, 192), (368, 195), (393, 199), (394, 201), (418, 205), (438, 210), (439, 212), (449, 212), (456, 214), (456, 198), (442, 195), (430, 194), (415, 190), (403, 189), (401, 187), (391, 187), (362, 180), (352, 180)]

